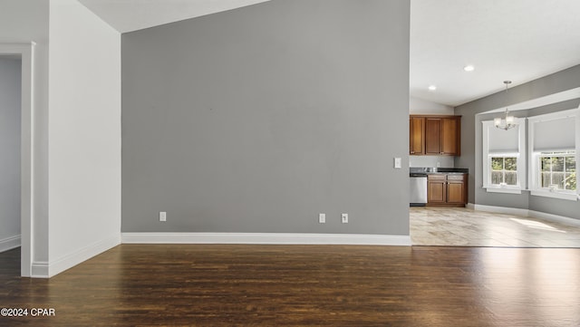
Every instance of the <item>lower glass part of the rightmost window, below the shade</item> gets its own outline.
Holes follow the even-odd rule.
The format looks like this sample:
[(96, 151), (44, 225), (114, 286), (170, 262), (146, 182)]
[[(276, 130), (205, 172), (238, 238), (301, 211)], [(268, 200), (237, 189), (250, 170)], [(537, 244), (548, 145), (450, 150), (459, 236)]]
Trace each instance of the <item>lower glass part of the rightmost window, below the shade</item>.
[(562, 190), (574, 192), (576, 190), (576, 158), (575, 151), (541, 152), (538, 167), (540, 172), (541, 188), (550, 191)]

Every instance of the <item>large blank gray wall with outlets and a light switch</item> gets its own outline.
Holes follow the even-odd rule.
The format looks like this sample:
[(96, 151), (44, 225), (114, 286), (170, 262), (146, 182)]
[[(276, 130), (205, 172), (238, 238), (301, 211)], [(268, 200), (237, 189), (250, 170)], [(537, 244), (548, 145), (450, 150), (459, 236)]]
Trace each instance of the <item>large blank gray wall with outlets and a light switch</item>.
[(122, 232), (408, 236), (409, 20), (274, 0), (123, 34)]

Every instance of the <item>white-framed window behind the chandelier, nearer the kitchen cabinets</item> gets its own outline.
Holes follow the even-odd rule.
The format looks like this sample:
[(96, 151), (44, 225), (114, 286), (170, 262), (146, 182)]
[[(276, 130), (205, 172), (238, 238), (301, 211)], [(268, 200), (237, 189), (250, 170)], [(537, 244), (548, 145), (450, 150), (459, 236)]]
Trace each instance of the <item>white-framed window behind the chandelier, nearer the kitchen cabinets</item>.
[(488, 192), (521, 193), (526, 188), (526, 120), (500, 130), (493, 120), (482, 121), (483, 188)]

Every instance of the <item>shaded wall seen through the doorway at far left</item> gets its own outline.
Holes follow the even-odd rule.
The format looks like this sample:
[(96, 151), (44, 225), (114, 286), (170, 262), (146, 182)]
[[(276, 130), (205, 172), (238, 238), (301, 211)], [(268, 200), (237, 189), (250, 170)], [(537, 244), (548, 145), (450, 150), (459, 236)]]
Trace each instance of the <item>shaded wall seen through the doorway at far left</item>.
[(0, 56), (0, 252), (20, 245), (20, 66)]

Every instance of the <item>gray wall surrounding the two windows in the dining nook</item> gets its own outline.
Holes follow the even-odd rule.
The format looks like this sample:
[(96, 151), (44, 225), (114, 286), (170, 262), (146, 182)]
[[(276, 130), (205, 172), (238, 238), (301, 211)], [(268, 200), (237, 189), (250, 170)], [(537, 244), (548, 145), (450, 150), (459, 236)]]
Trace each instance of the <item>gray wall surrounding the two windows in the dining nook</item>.
[[(529, 209), (558, 216), (580, 218), (580, 202), (555, 198), (535, 197), (525, 191), (521, 195), (488, 193), (483, 186), (482, 176), (482, 120), (492, 120), (497, 114), (483, 114), (506, 105), (541, 98), (561, 91), (580, 87), (580, 65), (546, 77), (527, 82), (517, 87), (489, 95), (488, 97), (460, 105), (455, 113), (461, 115), (461, 157), (455, 166), (469, 168), (469, 203)], [(578, 108), (580, 99), (563, 101), (552, 105), (531, 108), (527, 111), (512, 111), (516, 117), (531, 117), (549, 112)]]

